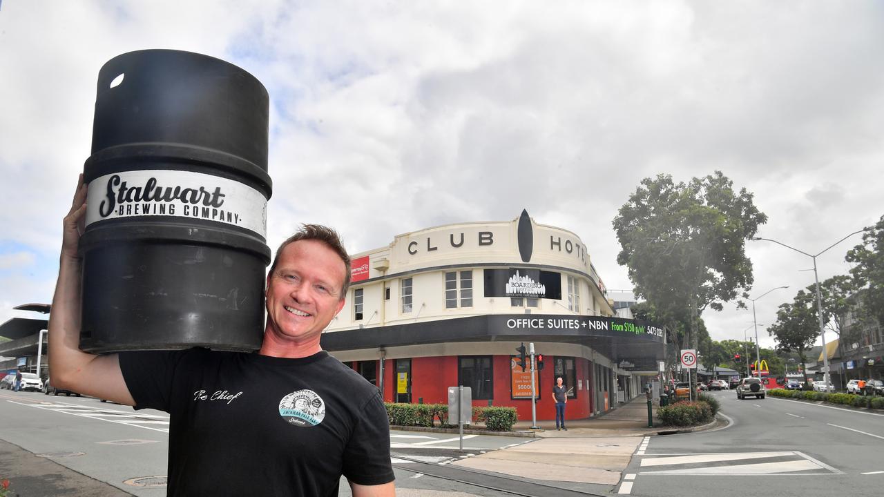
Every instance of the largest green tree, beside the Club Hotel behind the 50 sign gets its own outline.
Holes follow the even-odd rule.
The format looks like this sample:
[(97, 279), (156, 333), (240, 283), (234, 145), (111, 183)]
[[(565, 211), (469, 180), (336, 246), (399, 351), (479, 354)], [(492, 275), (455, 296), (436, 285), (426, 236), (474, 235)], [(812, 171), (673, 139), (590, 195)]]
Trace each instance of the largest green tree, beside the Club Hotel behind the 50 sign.
[(628, 267), (636, 294), (661, 315), (687, 311), (682, 348), (697, 348), (697, 318), (707, 306), (721, 310), (720, 302), (751, 288), (745, 241), (767, 221), (752, 198), (720, 171), (687, 184), (660, 174), (642, 180), (613, 219), (617, 262)]

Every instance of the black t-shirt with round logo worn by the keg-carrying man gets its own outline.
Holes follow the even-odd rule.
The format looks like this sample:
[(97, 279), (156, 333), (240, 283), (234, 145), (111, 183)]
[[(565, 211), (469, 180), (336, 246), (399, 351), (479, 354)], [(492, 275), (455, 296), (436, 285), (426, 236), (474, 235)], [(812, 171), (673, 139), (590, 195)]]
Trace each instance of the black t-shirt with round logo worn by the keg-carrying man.
[(337, 495), (393, 480), (377, 388), (327, 352), (119, 355), (135, 409), (171, 415), (169, 495)]

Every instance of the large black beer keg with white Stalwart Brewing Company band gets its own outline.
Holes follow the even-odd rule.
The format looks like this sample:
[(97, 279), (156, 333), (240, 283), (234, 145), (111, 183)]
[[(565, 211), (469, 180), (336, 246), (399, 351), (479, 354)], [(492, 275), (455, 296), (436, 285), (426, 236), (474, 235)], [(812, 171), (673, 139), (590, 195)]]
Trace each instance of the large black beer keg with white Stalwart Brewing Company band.
[(140, 50), (102, 67), (81, 349), (260, 348), (268, 115), (261, 82), (214, 57)]

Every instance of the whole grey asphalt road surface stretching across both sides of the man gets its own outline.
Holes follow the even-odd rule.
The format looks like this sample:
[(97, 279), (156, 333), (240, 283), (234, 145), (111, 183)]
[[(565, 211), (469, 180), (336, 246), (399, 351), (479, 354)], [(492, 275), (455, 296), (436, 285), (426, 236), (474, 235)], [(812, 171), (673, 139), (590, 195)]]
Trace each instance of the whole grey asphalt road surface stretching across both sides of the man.
[[(806, 497), (873, 495), (884, 486), (880, 458), (884, 454), (884, 416), (880, 413), (772, 397), (737, 401), (733, 391), (713, 395), (720, 399), (722, 413), (732, 424), (708, 432), (634, 439), (638, 448), (617, 486), (531, 480), (471, 470), (466, 464), (470, 458), (478, 461), (478, 456), (492, 451), (523, 454), (531, 450), (531, 444), (552, 440), (468, 435), (461, 450), (456, 434), (393, 431), (391, 452), (398, 494), (566, 497), (610, 494), (613, 488), (614, 494), (647, 497), (685, 493)], [(94, 478), (91, 481), (100, 486), (88, 495), (165, 494), (168, 416), (163, 412), (136, 412), (90, 398), (2, 391), (0, 419), (0, 440), (41, 456), (30, 455), (32, 461), (61, 464), (85, 475), (82, 478)], [(0, 443), (0, 452), (3, 449)], [(629, 454), (625, 453), (624, 464)], [(62, 478), (51, 468), (45, 475), (39, 474), (38, 479)], [(45, 494), (71, 493), (59, 490)], [(349, 494), (346, 483), (340, 494)]]

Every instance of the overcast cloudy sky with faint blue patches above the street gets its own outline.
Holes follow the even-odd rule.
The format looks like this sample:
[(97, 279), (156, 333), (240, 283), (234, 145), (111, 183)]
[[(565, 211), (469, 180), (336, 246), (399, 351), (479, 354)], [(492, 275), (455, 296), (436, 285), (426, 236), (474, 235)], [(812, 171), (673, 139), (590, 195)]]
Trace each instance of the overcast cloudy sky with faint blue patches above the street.
[[(882, 14), (873, 1), (3, 0), (0, 322), (51, 300), (95, 80), (121, 53), (200, 52), (263, 82), (271, 247), (302, 222), (357, 252), (527, 209), (630, 289), (611, 222), (661, 172), (724, 172), (769, 216), (760, 236), (814, 254), (884, 214)], [(849, 271), (858, 241), (819, 256), (819, 278)], [(747, 251), (753, 297), (790, 286), (758, 300), (770, 325), (812, 261)], [(752, 324), (733, 303), (703, 317), (716, 340)]]

